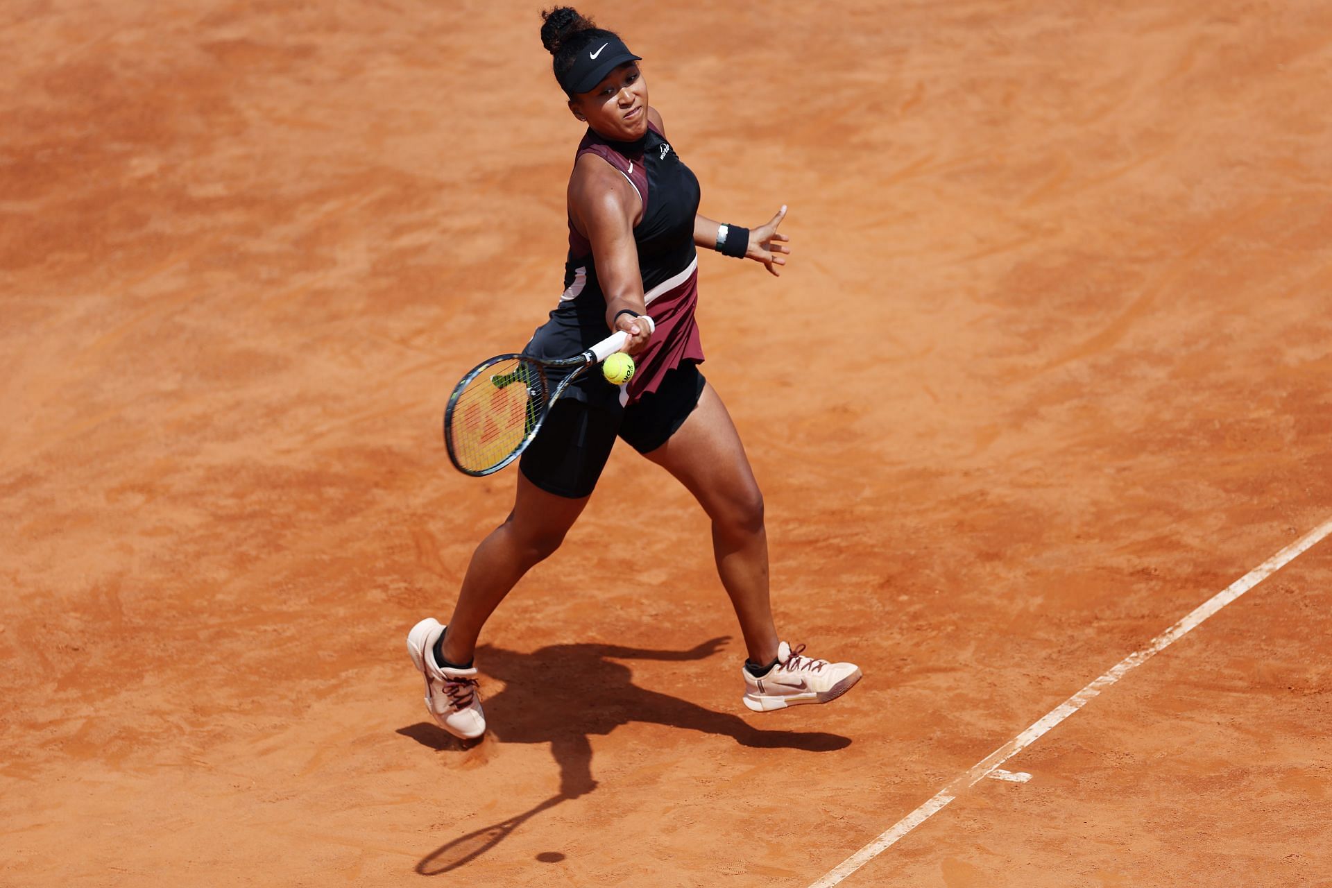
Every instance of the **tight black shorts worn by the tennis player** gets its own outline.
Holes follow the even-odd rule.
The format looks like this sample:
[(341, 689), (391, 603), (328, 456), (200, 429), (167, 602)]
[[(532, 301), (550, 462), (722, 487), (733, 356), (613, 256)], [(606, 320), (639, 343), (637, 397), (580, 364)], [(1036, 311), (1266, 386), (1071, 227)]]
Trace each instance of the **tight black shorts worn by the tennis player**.
[(666, 371), (657, 391), (627, 407), (561, 398), (522, 451), (518, 467), (546, 493), (569, 499), (587, 497), (617, 435), (638, 453), (657, 450), (685, 425), (706, 382), (698, 365), (686, 361)]

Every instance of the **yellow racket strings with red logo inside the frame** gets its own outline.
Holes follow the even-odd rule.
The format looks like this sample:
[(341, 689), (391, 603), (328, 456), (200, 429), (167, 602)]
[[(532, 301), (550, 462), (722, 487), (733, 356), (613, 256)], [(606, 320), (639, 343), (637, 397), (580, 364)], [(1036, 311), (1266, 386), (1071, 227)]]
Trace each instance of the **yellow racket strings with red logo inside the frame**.
[(546, 405), (541, 369), (507, 358), (482, 369), (454, 399), (452, 451), (464, 471), (485, 471), (513, 454), (541, 421)]

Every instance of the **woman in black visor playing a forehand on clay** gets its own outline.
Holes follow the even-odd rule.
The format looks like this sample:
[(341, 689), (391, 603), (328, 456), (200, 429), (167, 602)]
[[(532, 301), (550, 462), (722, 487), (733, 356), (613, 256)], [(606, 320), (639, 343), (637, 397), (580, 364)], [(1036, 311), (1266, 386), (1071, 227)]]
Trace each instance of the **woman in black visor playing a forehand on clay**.
[(786, 208), (753, 230), (699, 216), (698, 180), (647, 104), (639, 56), (570, 7), (542, 19), (555, 80), (587, 132), (569, 178), (565, 292), (525, 353), (565, 358), (623, 330), (638, 370), (623, 386), (585, 374), (555, 402), (518, 463), (513, 511), (472, 556), (453, 616), (446, 626), (424, 619), (409, 632), (426, 707), (458, 738), (485, 734), (473, 666), (481, 627), (518, 579), (559, 547), (617, 437), (678, 478), (711, 518), (717, 570), (749, 651), (745, 706), (762, 712), (826, 703), (855, 684), (860, 670), (778, 638), (763, 498), (730, 414), (698, 370), (703, 349), (694, 321), (695, 246), (779, 274), (790, 253), (777, 232)]

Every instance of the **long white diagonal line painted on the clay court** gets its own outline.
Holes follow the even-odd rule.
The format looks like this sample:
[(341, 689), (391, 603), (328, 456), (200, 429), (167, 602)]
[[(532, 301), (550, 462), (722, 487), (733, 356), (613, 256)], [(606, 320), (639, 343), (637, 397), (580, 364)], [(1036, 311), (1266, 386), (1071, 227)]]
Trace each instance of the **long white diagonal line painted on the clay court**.
[(1184, 638), (1188, 632), (1197, 628), (1208, 616), (1221, 610), (1236, 598), (1249, 591), (1264, 579), (1275, 574), (1276, 571), (1285, 567), (1288, 563), (1303, 555), (1312, 546), (1320, 542), (1324, 537), (1332, 534), (1332, 518), (1323, 522), (1308, 534), (1295, 541), (1277, 554), (1268, 558), (1265, 562), (1244, 574), (1224, 590), (1209, 598), (1203, 604), (1199, 604), (1193, 611), (1181, 619), (1180, 622), (1171, 626), (1168, 630), (1158, 635), (1151, 640), (1151, 643), (1142, 648), (1140, 651), (1134, 651), (1119, 663), (1115, 664), (1108, 672), (1095, 679), (1091, 684), (1083, 690), (1074, 694), (1071, 698), (1056, 706), (1048, 714), (1046, 714), (1039, 722), (1032, 724), (1030, 728), (1015, 736), (1008, 743), (987, 755), (984, 759), (978, 762), (971, 767), (970, 771), (959, 775), (952, 783), (939, 789), (928, 801), (922, 804), (919, 808), (908, 813), (907, 816), (898, 820), (892, 827), (890, 827), (883, 835), (867, 844), (866, 847), (856, 851), (854, 855), (843, 860), (840, 864), (834, 867), (826, 876), (815, 881), (810, 888), (832, 888), (832, 885), (839, 884), (843, 879), (850, 876), (852, 872), (870, 863), (880, 853), (891, 848), (899, 839), (906, 836), (908, 832), (919, 827), (922, 823), (942, 811), (950, 801), (958, 797), (968, 787), (975, 785), (980, 780), (990, 776), (992, 772), (999, 770), (999, 766), (1011, 759), (1012, 756), (1022, 752), (1024, 748), (1035, 743), (1047, 731), (1054, 728), (1056, 724), (1067, 719), (1070, 715), (1080, 710), (1087, 704), (1094, 696), (1100, 694), (1103, 690), (1124, 678), (1130, 670), (1142, 666), (1148, 659), (1156, 654), (1164, 651), (1167, 647)]

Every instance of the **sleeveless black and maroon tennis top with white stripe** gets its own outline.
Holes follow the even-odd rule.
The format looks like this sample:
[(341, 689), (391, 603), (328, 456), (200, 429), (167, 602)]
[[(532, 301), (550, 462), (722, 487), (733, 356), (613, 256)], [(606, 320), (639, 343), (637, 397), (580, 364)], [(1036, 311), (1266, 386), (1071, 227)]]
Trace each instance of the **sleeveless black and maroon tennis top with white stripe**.
[[(670, 142), (649, 122), (637, 142), (614, 142), (591, 129), (578, 144), (578, 157), (593, 153), (614, 166), (638, 192), (643, 216), (634, 226), (638, 270), (643, 278), (647, 314), (657, 332), (647, 349), (635, 357), (638, 371), (617, 391), (599, 373), (587, 373), (569, 394), (583, 401), (618, 395), (631, 403), (655, 391), (662, 375), (682, 361), (702, 361), (703, 346), (694, 321), (698, 304), (698, 253), (694, 250), (694, 217), (698, 214), (698, 178)], [(591, 244), (569, 222), (569, 257), (565, 292), (550, 320), (531, 337), (526, 353), (541, 358), (566, 358), (606, 338), (606, 297), (597, 280)]]

